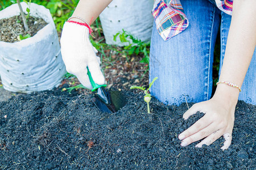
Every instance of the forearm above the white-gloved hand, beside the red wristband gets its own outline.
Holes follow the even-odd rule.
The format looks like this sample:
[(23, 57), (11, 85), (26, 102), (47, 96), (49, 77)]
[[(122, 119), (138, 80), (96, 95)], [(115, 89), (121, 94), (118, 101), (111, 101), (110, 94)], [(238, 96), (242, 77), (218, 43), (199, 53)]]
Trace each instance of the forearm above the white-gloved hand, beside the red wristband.
[[(80, 0), (72, 16), (79, 16), (88, 24), (93, 23), (110, 2), (112, 0)], [(72, 20), (81, 22), (77, 19)]]

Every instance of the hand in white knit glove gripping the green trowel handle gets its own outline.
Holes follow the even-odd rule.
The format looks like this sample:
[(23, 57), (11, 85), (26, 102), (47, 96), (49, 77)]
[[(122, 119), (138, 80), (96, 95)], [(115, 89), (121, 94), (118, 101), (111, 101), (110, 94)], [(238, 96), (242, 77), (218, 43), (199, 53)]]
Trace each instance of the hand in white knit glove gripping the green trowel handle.
[[(88, 25), (89, 27), (89, 25)], [(97, 84), (104, 84), (96, 52), (89, 40), (90, 27), (76, 22), (65, 22), (61, 33), (61, 55), (68, 73), (76, 75), (80, 83), (92, 89), (87, 75), (87, 66)]]

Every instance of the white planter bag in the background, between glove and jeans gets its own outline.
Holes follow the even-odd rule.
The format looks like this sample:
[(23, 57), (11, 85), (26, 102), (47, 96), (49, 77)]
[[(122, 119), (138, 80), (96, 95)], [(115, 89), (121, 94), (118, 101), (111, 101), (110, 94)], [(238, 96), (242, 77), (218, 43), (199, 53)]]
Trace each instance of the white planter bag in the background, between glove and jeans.
[(113, 0), (100, 14), (106, 44), (127, 45), (121, 43), (119, 37), (117, 41), (113, 40), (116, 33), (122, 33), (122, 29), (139, 40), (149, 41), (154, 22), (151, 14), (153, 5), (154, 0)]

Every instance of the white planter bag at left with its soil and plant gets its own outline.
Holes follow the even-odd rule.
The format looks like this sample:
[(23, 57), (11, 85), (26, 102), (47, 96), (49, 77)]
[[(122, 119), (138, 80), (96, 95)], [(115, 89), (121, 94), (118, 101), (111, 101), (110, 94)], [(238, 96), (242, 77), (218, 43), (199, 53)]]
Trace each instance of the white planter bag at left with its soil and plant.
[(17, 2), (0, 11), (3, 87), (23, 93), (50, 90), (59, 86), (66, 73), (51, 13), (31, 1)]

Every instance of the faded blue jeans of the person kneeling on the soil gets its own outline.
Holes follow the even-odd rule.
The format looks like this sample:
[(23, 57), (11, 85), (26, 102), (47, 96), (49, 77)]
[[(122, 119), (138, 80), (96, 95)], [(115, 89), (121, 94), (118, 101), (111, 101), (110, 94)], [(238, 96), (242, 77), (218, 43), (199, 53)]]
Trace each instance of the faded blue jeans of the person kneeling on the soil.
[[(150, 81), (158, 77), (151, 94), (165, 104), (209, 100), (212, 95), (213, 52), (220, 29), (220, 70), (231, 16), (206, 0), (181, 0), (189, 20), (185, 31), (164, 41), (153, 26), (150, 49)], [(256, 49), (243, 81), (239, 100), (256, 104)], [(219, 73), (220, 74), (220, 73)], [(236, 82), (233, 82), (236, 83)]]

